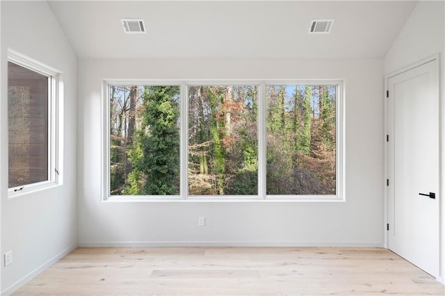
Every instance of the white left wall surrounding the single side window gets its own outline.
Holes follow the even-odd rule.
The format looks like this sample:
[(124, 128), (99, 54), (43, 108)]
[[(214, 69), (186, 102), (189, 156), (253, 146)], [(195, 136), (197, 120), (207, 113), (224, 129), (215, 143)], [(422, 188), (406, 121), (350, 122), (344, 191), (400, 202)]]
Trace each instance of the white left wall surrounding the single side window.
[[(1, 287), (8, 294), (76, 247), (76, 56), (46, 1), (1, 1)], [(64, 74), (63, 185), (8, 199), (7, 51)], [(13, 263), (3, 267), (3, 253)]]

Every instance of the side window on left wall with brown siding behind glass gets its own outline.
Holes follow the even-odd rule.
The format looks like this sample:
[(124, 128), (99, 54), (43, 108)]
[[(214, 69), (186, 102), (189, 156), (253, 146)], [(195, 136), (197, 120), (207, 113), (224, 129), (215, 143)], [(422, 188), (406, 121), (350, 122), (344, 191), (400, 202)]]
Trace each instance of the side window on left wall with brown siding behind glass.
[(8, 188), (10, 195), (58, 183), (56, 74), (8, 60)]

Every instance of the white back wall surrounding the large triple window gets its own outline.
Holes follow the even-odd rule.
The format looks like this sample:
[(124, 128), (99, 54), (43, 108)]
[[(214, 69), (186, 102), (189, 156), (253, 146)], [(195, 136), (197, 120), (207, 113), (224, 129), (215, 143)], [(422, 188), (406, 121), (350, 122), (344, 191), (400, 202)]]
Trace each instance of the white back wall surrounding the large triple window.
[[(79, 60), (78, 69), (79, 245), (383, 245), (382, 60)], [(344, 79), (346, 202), (101, 202), (103, 79)]]

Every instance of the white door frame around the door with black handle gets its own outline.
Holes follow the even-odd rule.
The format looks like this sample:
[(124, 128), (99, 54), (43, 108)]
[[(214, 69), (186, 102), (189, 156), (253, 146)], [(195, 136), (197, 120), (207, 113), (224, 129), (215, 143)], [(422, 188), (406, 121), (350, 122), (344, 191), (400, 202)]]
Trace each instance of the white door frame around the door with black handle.
[[(385, 231), (385, 235), (384, 235), (384, 243), (383, 243), (383, 247), (385, 247), (386, 249), (388, 249), (388, 231), (387, 231), (387, 223), (388, 223), (388, 217), (389, 217), (389, 212), (388, 212), (388, 202), (389, 202), (389, 187), (387, 186), (387, 180), (390, 179), (391, 176), (391, 164), (389, 163), (389, 145), (387, 142), (387, 135), (389, 134), (388, 131), (388, 121), (389, 121), (389, 115), (388, 115), (388, 98), (387, 98), (387, 90), (388, 90), (388, 81), (391, 77), (394, 77), (396, 75), (402, 74), (403, 72), (407, 72), (411, 69), (414, 69), (416, 67), (419, 67), (423, 64), (432, 62), (433, 60), (437, 60), (437, 64), (435, 67), (435, 74), (437, 75), (437, 77), (439, 77), (439, 81), (438, 81), (438, 87), (439, 87), (439, 180), (442, 180), (442, 176), (444, 174), (444, 172), (442, 171), (442, 158), (444, 157), (444, 155), (442, 154), (442, 149), (441, 149), (441, 145), (442, 145), (442, 104), (444, 104), (442, 102), (442, 91), (440, 88), (440, 59), (439, 59), (439, 54), (435, 54), (434, 56), (430, 56), (428, 58), (424, 58), (423, 60), (419, 60), (418, 62), (408, 65), (407, 67), (403, 67), (402, 69), (398, 69), (394, 72), (390, 72), (389, 74), (385, 75), (385, 91), (383, 94), (383, 98), (384, 98), (384, 106), (385, 106), (385, 131), (384, 131), (384, 145), (385, 145), (385, 160), (384, 160), (384, 165), (385, 165), (385, 175), (384, 175), (384, 179), (382, 180), (382, 182), (384, 183), (385, 186), (385, 196), (384, 196), (384, 229), (383, 231)], [(394, 138), (394, 135), (393, 137)], [(437, 196), (439, 197), (439, 211), (442, 211), (442, 186), (440, 186), (439, 184), (439, 191), (437, 192)], [(442, 224), (444, 220), (444, 216), (439, 213), (439, 233), (442, 233), (441, 229), (442, 229)], [(442, 242), (442, 238), (439, 235), (439, 247), (441, 247), (441, 242)], [(441, 261), (441, 257), (444, 256), (444, 254), (441, 252), (441, 250), (439, 249), (439, 273), (441, 270), (441, 266), (440, 266), (440, 261)], [(437, 277), (437, 280), (440, 279), (439, 274), (435, 274), (435, 277)]]

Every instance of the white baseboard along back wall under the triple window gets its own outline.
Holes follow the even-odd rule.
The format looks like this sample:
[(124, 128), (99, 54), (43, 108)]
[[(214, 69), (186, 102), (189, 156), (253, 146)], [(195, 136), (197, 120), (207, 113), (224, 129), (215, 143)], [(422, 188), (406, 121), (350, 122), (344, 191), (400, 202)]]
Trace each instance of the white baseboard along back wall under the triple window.
[(79, 242), (78, 247), (383, 247), (383, 242), (134, 241)]

